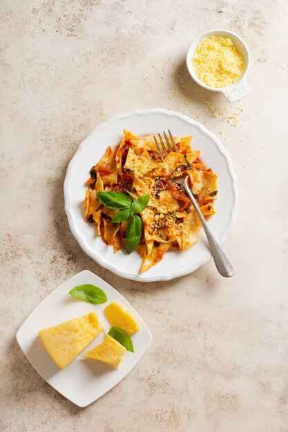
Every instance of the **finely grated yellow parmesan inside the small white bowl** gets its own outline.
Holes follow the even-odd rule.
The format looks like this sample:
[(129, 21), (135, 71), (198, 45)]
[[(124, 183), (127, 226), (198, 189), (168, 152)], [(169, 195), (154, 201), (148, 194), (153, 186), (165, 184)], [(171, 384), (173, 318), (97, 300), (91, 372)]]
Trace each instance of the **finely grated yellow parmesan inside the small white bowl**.
[(196, 75), (212, 88), (235, 83), (242, 75), (244, 57), (229, 37), (211, 36), (198, 43), (193, 55)]

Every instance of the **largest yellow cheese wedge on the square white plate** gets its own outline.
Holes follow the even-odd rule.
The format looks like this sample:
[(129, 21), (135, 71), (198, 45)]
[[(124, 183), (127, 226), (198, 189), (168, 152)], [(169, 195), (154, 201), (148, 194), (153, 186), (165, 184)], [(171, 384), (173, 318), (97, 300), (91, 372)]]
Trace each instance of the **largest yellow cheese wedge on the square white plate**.
[(77, 357), (103, 331), (95, 312), (39, 331), (46, 350), (60, 369)]

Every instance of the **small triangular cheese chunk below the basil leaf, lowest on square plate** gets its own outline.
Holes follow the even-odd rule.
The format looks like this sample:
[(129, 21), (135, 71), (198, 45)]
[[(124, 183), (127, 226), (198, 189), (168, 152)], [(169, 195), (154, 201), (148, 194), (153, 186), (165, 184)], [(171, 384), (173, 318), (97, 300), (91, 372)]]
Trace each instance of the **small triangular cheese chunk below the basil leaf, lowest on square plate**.
[(122, 344), (119, 344), (110, 335), (106, 335), (102, 344), (96, 345), (91, 351), (87, 351), (86, 357), (117, 368), (124, 357), (125, 351), (126, 348)]

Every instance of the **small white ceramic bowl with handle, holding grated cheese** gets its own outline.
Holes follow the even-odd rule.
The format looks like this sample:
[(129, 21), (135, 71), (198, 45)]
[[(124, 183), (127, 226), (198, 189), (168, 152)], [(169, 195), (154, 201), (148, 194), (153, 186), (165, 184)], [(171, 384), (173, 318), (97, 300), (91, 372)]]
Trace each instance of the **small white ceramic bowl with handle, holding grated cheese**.
[[(223, 37), (229, 37), (231, 41), (236, 46), (237, 50), (242, 54), (244, 57), (244, 70), (242, 72), (242, 75), (236, 83), (231, 84), (231, 86), (223, 87), (223, 88), (213, 88), (206, 86), (195, 73), (194, 66), (193, 66), (193, 53), (195, 51), (195, 48), (198, 46), (198, 43), (202, 41), (202, 39), (206, 39), (207, 37), (211, 36), (223, 36)], [(250, 67), (250, 55), (249, 50), (247, 48), (246, 43), (238, 36), (236, 33), (229, 32), (228, 30), (209, 30), (209, 32), (204, 32), (202, 35), (196, 37), (196, 39), (193, 40), (191, 43), (191, 46), (189, 46), (189, 50), (186, 55), (186, 65), (189, 74), (193, 78), (193, 80), (199, 84), (199, 86), (206, 88), (207, 90), (211, 90), (212, 92), (221, 92), (223, 93), (224, 97), (226, 97), (227, 101), (229, 102), (236, 102), (242, 99), (243, 97), (249, 95), (250, 88), (247, 84), (246, 77), (247, 73), (249, 71)]]

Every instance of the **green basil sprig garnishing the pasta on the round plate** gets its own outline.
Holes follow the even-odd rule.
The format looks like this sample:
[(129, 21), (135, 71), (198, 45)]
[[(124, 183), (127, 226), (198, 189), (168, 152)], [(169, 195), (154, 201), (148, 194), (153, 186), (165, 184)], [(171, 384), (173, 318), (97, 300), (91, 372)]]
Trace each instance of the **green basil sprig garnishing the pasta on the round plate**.
[(136, 213), (141, 213), (146, 208), (150, 195), (138, 197), (133, 202), (130, 197), (119, 192), (98, 192), (97, 198), (104, 206), (113, 208), (113, 210), (120, 210), (111, 222), (119, 223), (128, 220), (126, 249), (128, 253), (133, 252), (135, 247), (140, 244), (143, 233), (142, 219)]

